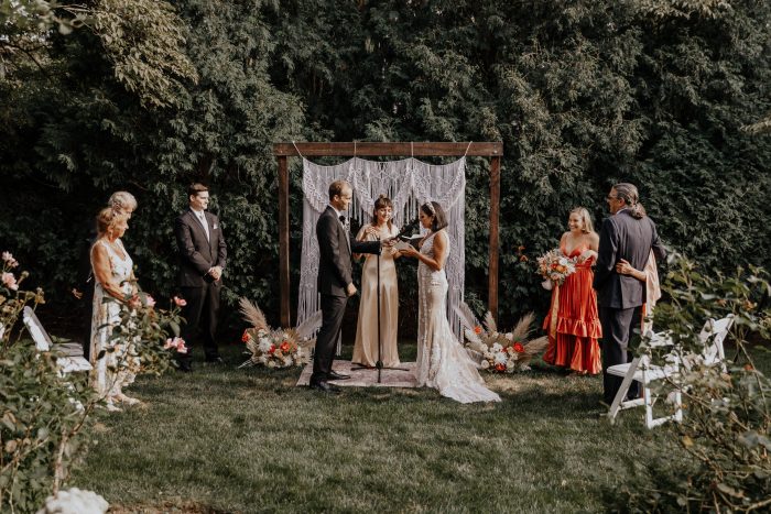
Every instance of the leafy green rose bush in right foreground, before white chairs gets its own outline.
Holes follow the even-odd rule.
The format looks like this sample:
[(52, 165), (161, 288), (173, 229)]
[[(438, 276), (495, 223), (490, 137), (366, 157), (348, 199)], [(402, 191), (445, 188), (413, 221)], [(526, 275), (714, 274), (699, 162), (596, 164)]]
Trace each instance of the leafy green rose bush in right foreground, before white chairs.
[[(752, 362), (747, 348), (753, 335), (769, 350), (771, 286), (762, 269), (738, 269), (729, 276), (710, 276), (683, 258), (671, 258), (664, 285), (671, 302), (658, 304), (654, 325), (667, 330), (685, 365), (667, 384), (682, 392), (684, 419), (666, 447), (681, 446), (688, 459), (677, 469), (659, 462), (649, 470), (653, 490), (622, 486), (619, 505), (632, 512), (750, 512), (771, 505), (771, 381)], [(701, 354), (698, 333), (704, 320), (735, 316), (731, 341), (737, 356), (707, 364), (687, 359)], [(645, 350), (651, 351), (651, 350)], [(664, 362), (665, 350), (652, 350)]]

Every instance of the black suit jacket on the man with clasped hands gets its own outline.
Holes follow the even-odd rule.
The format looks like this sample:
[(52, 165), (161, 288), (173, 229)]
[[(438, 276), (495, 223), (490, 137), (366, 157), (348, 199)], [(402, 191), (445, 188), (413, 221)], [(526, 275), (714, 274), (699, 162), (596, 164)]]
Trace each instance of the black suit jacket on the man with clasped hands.
[[(203, 287), (210, 282), (205, 276), (211, 267), (220, 266), (225, 270), (228, 249), (225, 244), (222, 227), (215, 215), (205, 212), (205, 216), (209, 226), (208, 240), (204, 227), (191, 209), (180, 215), (174, 225), (174, 236), (180, 251), (180, 286), (182, 287)], [(221, 278), (215, 284), (221, 285)]]

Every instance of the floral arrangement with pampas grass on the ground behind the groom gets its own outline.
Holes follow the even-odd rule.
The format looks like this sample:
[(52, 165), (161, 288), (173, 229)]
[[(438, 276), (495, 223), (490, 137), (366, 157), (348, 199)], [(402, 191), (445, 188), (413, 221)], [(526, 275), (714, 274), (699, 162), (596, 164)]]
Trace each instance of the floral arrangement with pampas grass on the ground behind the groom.
[(239, 368), (264, 365), (282, 369), (311, 362), (311, 348), (316, 343), (312, 335), (322, 325), (321, 310), (296, 328), (273, 329), (268, 326), (262, 310), (249, 299), (241, 298), (239, 305), (243, 319), (251, 324), (241, 336), (250, 357)]

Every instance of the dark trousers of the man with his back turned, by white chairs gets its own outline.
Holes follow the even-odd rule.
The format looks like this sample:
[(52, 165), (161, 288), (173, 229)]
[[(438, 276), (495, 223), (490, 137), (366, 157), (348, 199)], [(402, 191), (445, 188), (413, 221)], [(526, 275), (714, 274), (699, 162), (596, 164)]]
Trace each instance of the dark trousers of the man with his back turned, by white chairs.
[[(616, 364), (626, 364), (634, 358), (629, 351), (629, 340), (633, 336), (634, 328), (640, 328), (642, 307), (616, 309), (611, 307), (599, 308), (599, 322), (602, 325), (602, 397), (605, 403), (613, 403), (616, 393), (621, 389), (623, 379), (608, 374), (608, 368)], [(627, 393), (627, 398), (640, 396), (640, 383), (632, 381)]]

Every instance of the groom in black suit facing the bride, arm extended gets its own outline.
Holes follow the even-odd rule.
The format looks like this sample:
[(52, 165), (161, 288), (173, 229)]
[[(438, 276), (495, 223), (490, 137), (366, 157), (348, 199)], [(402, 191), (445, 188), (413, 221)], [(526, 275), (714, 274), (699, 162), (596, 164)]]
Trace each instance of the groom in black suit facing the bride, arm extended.
[(345, 380), (348, 375), (332, 370), (335, 342), (343, 325), (348, 297), (356, 294), (351, 278), (351, 252), (380, 253), (380, 241), (357, 241), (351, 238), (345, 216), (352, 190), (345, 181), (329, 185), (329, 206), (316, 222), (318, 239), (318, 292), (322, 295), (322, 328), (316, 338), (311, 387), (325, 393), (336, 392), (329, 380)]

